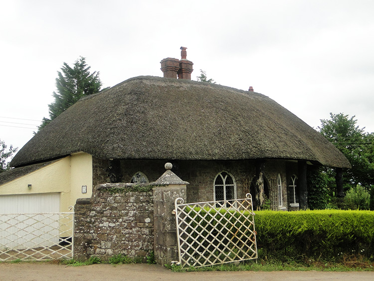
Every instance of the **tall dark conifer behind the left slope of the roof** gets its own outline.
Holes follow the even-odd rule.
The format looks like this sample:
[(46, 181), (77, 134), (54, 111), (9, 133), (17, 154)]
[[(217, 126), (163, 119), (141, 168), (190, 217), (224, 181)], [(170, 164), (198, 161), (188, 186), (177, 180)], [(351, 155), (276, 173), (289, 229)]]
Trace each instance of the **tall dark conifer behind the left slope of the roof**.
[(76, 103), (81, 97), (95, 94), (100, 91), (102, 83), (99, 72), (90, 73), (84, 57), (78, 58), (73, 67), (63, 63), (61, 71), (57, 71), (57, 91), (53, 92), (54, 102), (48, 105), (49, 118), (43, 118), (39, 130), (50, 121)]

